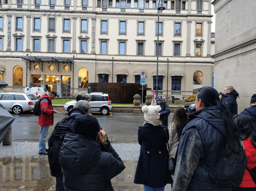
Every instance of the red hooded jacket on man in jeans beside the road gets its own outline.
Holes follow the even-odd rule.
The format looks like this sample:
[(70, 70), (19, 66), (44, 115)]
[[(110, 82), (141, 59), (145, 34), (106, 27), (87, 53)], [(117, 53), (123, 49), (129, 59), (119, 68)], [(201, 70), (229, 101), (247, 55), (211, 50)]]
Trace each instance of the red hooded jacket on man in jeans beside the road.
[[(48, 98), (48, 100), (43, 98)], [(53, 125), (53, 108), (50, 101), (51, 99), (47, 94), (43, 94), (42, 99), (43, 100), (40, 103), (40, 109), (42, 110), (42, 112), (38, 117), (38, 125), (51, 126)]]

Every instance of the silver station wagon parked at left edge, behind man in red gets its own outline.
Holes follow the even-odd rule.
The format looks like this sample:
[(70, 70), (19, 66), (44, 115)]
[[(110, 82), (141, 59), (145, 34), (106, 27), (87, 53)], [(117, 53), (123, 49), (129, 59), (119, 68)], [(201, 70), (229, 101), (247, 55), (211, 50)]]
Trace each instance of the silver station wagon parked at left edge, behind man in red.
[(12, 111), (14, 114), (33, 110), (37, 101), (36, 96), (31, 93), (0, 93), (0, 104), (2, 104), (7, 111)]

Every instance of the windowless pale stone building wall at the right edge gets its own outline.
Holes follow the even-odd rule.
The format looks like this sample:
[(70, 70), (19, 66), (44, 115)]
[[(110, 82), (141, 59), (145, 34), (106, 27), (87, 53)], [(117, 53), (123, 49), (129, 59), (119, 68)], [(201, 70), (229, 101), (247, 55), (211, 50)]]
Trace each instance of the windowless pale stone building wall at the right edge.
[(216, 13), (214, 87), (233, 86), (238, 113), (250, 107), (256, 93), (256, 1), (214, 0)]

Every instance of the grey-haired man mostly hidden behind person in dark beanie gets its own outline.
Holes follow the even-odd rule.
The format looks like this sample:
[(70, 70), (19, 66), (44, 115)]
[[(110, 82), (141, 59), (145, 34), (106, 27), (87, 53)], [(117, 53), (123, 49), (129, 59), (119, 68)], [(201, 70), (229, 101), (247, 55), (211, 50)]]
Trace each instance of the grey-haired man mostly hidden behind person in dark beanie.
[[(76, 104), (74, 105), (74, 109), (71, 110), (70, 112), (70, 116), (65, 117), (64, 119), (62, 119), (61, 121), (57, 122), (55, 129), (53, 130), (51, 136), (49, 137), (48, 140), (48, 159), (49, 159), (49, 166), (50, 166), (50, 170), (51, 170), (51, 175), (56, 177), (56, 191), (65, 191), (64, 186), (63, 186), (63, 175), (61, 173), (61, 165), (59, 163), (59, 150), (61, 148), (59, 148), (59, 146), (61, 145), (57, 145), (54, 142), (54, 139), (52, 139), (53, 135), (56, 132), (56, 127), (59, 125), (67, 125), (67, 133), (68, 130), (71, 131), (72, 133), (72, 127), (73, 127), (73, 123), (74, 120), (77, 116), (81, 116), (81, 115), (86, 115), (86, 114), (90, 114), (90, 103), (85, 101), (85, 100), (79, 100), (76, 102)], [(65, 129), (64, 129), (65, 130)], [(65, 135), (64, 135), (65, 136)], [(64, 139), (64, 138), (63, 138)], [(61, 142), (60, 142), (61, 144)], [(58, 147), (58, 148), (57, 148)]]

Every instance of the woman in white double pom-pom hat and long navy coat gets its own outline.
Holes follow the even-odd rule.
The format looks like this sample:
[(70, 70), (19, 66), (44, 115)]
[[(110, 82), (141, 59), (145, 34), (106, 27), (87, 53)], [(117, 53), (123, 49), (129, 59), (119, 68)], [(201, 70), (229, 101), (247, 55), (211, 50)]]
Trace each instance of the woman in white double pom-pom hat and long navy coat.
[(160, 110), (159, 105), (142, 107), (146, 122), (138, 130), (141, 146), (134, 183), (143, 184), (144, 191), (164, 191), (165, 185), (172, 183), (168, 172), (169, 154), (166, 145), (169, 134), (168, 128), (163, 127), (159, 120)]

